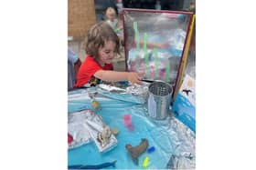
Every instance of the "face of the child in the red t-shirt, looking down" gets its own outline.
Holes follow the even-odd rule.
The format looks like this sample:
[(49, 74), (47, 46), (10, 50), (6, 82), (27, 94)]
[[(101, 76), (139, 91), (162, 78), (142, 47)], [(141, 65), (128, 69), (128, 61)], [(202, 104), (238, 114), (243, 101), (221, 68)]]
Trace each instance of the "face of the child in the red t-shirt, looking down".
[(111, 64), (115, 55), (115, 43), (112, 41), (106, 41), (105, 45), (99, 49), (99, 60), (101, 64)]

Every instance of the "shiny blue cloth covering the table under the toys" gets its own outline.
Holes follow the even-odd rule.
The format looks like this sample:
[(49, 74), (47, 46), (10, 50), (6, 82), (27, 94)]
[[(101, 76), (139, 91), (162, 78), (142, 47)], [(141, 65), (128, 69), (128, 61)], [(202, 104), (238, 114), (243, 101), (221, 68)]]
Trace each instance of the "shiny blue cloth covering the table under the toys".
[[(89, 91), (80, 89), (69, 92), (69, 113), (92, 109)], [(189, 155), (189, 159), (183, 161), (183, 166), (179, 167), (195, 168), (195, 134), (175, 117), (168, 116), (163, 121), (156, 121), (148, 117), (144, 105), (123, 102), (101, 95), (96, 95), (95, 99), (101, 105), (101, 110), (97, 113), (107, 125), (119, 130), (116, 136), (118, 144), (111, 151), (102, 154), (93, 142), (70, 149), (69, 165), (99, 165), (117, 160), (116, 169), (140, 169), (143, 168), (144, 157), (148, 156), (150, 159), (148, 168), (165, 169), (171, 155)], [(132, 115), (133, 131), (123, 125), (124, 114)], [(151, 154), (145, 152), (139, 157), (139, 165), (134, 165), (125, 145), (139, 145), (142, 138), (148, 140), (149, 147), (155, 147), (155, 152)]]

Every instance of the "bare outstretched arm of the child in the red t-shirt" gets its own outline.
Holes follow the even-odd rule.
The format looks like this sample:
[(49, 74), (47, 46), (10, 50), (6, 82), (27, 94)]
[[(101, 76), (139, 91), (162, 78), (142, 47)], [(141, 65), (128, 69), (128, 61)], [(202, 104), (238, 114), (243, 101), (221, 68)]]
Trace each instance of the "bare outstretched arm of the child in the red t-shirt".
[(142, 84), (142, 82), (140, 81), (140, 75), (135, 72), (99, 70), (94, 74), (94, 76), (100, 78), (101, 80), (109, 82), (129, 81), (132, 84)]

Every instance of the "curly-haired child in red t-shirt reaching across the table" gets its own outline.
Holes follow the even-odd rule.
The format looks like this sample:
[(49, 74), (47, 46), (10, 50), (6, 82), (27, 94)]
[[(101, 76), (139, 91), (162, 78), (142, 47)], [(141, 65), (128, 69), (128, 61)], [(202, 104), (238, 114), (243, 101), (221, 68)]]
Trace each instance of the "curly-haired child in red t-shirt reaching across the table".
[(119, 38), (110, 25), (104, 22), (93, 25), (84, 42), (88, 56), (80, 65), (77, 83), (74, 87), (97, 85), (101, 83), (101, 80), (142, 84), (140, 75), (137, 73), (112, 71), (112, 59), (119, 53), (119, 47)]

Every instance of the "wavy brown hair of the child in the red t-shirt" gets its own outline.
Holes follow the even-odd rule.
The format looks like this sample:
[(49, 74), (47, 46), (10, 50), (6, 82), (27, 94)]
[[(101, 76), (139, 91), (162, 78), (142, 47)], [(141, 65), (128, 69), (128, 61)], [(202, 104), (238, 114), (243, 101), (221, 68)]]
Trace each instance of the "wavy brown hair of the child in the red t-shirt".
[(105, 22), (100, 22), (91, 26), (84, 39), (83, 48), (87, 55), (91, 55), (93, 58), (98, 58), (100, 47), (103, 47), (107, 41), (115, 43), (114, 52), (120, 54), (118, 36), (114, 33), (110, 25)]

